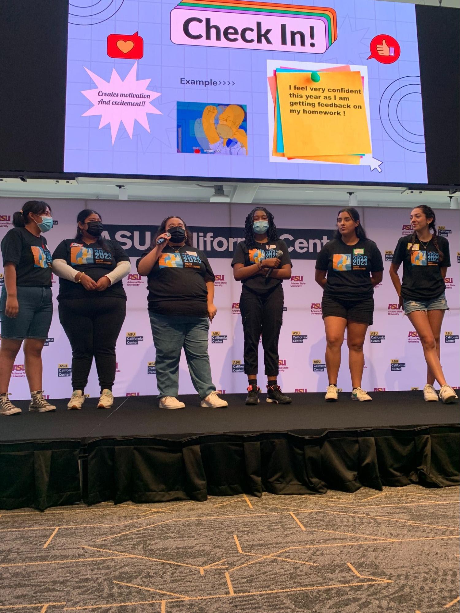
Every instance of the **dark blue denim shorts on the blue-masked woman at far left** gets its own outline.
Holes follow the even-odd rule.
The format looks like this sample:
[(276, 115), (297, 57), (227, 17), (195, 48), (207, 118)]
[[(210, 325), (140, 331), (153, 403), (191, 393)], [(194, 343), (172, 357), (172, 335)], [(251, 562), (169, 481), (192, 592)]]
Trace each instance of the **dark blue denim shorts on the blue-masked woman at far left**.
[(0, 322), (2, 338), (48, 338), (53, 318), (51, 287), (18, 287), (19, 313), (14, 319), (5, 314), (7, 293), (5, 286), (0, 295)]

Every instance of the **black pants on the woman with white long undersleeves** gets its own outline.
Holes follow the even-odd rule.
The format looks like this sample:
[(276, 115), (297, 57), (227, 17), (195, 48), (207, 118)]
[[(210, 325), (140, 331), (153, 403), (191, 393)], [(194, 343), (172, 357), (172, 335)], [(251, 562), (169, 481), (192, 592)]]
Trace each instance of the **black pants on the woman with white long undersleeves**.
[(59, 321), (72, 347), (72, 387), (84, 390), (93, 357), (102, 389), (112, 389), (117, 357), (115, 345), (126, 316), (126, 300), (91, 296), (59, 300)]

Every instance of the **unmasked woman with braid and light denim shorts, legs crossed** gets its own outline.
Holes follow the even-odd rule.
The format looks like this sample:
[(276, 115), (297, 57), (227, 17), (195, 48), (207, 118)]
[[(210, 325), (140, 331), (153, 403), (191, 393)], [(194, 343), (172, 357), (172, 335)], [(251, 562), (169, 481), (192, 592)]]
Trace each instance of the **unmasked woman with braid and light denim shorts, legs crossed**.
[[(444, 404), (450, 404), (457, 399), (457, 395), (444, 377), (439, 343), (442, 320), (449, 308), (444, 281), (450, 266), (449, 242), (447, 238), (437, 235), (434, 211), (426, 205), (411, 211), (410, 223), (413, 233), (399, 239), (389, 275), (399, 305), (404, 308), (423, 347), (427, 364), (423, 397), (426, 402), (436, 402), (441, 398)], [(401, 264), (402, 283), (397, 273)], [(439, 397), (434, 389), (435, 381), (440, 385)]]

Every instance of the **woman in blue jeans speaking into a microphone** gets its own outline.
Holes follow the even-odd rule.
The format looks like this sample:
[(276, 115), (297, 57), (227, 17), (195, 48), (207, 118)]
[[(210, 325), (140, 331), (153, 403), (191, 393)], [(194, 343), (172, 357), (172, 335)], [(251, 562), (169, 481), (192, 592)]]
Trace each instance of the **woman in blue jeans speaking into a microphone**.
[(137, 272), (147, 276), (148, 314), (162, 409), (185, 408), (177, 399), (182, 348), (201, 406), (228, 406), (212, 383), (208, 355), (209, 322), (217, 313), (213, 303), (214, 273), (191, 238), (185, 221), (171, 215), (163, 220), (150, 248), (137, 260)]

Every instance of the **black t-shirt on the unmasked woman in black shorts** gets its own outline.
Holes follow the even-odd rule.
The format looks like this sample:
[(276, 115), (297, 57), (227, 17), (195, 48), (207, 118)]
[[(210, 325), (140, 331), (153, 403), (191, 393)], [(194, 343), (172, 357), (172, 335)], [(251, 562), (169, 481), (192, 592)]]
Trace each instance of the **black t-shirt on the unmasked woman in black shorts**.
[(341, 238), (334, 238), (318, 253), (315, 268), (328, 271), (324, 295), (358, 302), (372, 298), (370, 273), (383, 271), (383, 261), (372, 240), (360, 238), (355, 245), (345, 245)]

